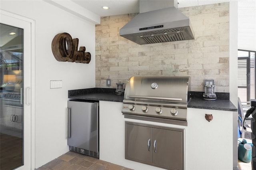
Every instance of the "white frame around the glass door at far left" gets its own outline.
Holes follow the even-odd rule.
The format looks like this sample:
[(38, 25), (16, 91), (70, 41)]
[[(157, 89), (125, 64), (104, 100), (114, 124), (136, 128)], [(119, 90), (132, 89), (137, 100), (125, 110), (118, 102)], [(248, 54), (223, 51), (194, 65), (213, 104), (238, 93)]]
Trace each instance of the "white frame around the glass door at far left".
[[(35, 169), (35, 20), (30, 18), (26, 18), (24, 16), (14, 14), (12, 12), (8, 12), (6, 10), (0, 10), (1, 16), (6, 16), (6, 18), (11, 18), (12, 20), (19, 20), (21, 22), (26, 22), (29, 25), (30, 32), (27, 32), (29, 38), (24, 40), (24, 44), (29, 44), (27, 46), (28, 51), (24, 51), (28, 53), (29, 59), (24, 62), (24, 67), (27, 68), (26, 71), (28, 75), (26, 75), (26, 79), (24, 81), (28, 83), (24, 83), (24, 113), (26, 114), (27, 119), (24, 119), (24, 136), (28, 136), (28, 138), (24, 139), (24, 148), (28, 148), (28, 150), (24, 150), (24, 165), (20, 166), (16, 170), (34, 170)], [(3, 18), (1, 17), (1, 23), (10, 25), (8, 22), (3, 22)], [(15, 26), (12, 24), (12, 26)], [(16, 26), (18, 27), (18, 26)], [(25, 49), (26, 50), (26, 49)], [(24, 76), (25, 77), (25, 76)], [(26, 104), (28, 101), (28, 105)], [(23, 114), (24, 114), (23, 113)], [(26, 130), (28, 129), (28, 130)], [(26, 130), (26, 131), (25, 131)], [(24, 149), (23, 148), (23, 149)]]

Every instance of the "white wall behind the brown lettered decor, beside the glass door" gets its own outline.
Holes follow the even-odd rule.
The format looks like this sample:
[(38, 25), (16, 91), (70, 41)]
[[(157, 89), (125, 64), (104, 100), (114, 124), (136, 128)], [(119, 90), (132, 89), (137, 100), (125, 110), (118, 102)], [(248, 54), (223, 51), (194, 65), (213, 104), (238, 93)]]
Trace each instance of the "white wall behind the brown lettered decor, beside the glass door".
[[(51, 4), (36, 1), (1, 0), (0, 8), (35, 20), (35, 168), (68, 152), (66, 107), (68, 90), (95, 87), (95, 24)], [(51, 43), (58, 33), (79, 39), (92, 59), (89, 64), (56, 61)], [(50, 80), (62, 80), (60, 89), (50, 89)], [(26, 113), (25, 113), (26, 114)], [(32, 139), (34, 140), (34, 139)]]

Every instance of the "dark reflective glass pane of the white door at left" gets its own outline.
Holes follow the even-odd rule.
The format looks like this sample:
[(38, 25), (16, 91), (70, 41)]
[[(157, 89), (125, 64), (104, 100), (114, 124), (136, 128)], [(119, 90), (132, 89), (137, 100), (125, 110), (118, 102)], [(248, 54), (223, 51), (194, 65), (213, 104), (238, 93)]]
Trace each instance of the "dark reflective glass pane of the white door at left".
[(0, 169), (23, 165), (23, 29), (0, 24)]

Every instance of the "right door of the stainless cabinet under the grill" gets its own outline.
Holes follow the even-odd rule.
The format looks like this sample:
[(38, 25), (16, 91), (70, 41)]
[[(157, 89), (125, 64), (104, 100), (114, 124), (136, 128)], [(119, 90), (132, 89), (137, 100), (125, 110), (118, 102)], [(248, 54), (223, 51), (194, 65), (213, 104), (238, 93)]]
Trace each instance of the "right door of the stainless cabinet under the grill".
[(152, 128), (152, 163), (182, 170), (183, 135), (180, 131)]

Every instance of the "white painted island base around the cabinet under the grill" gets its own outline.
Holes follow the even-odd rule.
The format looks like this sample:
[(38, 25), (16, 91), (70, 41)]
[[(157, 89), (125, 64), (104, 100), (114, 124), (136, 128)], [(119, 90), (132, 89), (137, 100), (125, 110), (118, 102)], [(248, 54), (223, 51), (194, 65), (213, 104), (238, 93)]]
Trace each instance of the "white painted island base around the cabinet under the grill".
[[(160, 170), (155, 166), (125, 159), (125, 121), (146, 123), (162, 127), (185, 129), (186, 170), (233, 169), (233, 119), (232, 111), (188, 108), (188, 126), (171, 125), (135, 119), (125, 119), (122, 103), (100, 101), (100, 160), (134, 170)], [(208, 122), (205, 114), (212, 114)]]

